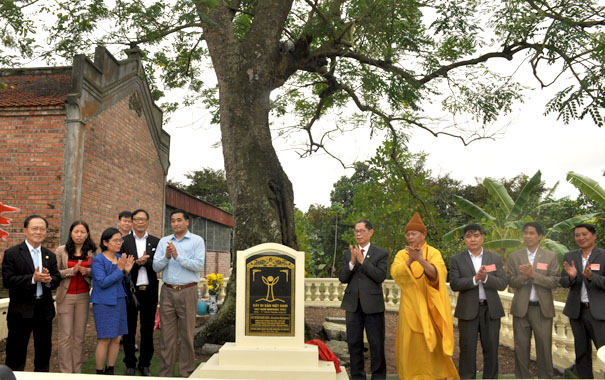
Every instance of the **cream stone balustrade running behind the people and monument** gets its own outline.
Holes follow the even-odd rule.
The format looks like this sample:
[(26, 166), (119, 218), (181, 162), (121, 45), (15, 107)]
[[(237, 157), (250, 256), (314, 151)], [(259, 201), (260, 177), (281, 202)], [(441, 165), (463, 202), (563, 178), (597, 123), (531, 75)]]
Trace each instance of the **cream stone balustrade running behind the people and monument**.
[[(225, 284), (228, 279), (225, 279)], [(204, 282), (200, 282), (198, 289), (205, 289)], [(305, 306), (319, 307), (339, 307), (346, 286), (341, 284), (337, 278), (305, 278)], [(399, 292), (400, 289), (393, 280), (387, 280), (383, 283), (385, 294), (385, 304), (388, 311), (399, 310)], [(452, 310), (456, 306), (458, 293), (449, 289), (450, 303)], [(505, 316), (501, 321), (500, 344), (514, 349), (513, 342), (513, 317), (510, 314), (510, 306), (513, 295), (506, 291), (499, 292)], [(207, 290), (202, 295), (208, 298)], [(225, 297), (225, 287), (223, 287), (218, 296), (219, 302)], [(555, 302), (555, 317), (553, 320), (553, 364), (559, 371), (569, 368), (575, 359), (574, 340), (571, 332), (569, 319), (563, 315), (563, 302)], [(6, 326), (6, 313), (8, 311), (8, 298), (0, 299), (0, 339), (6, 338), (8, 329)], [(454, 318), (454, 324), (457, 324)], [(532, 358), (535, 359), (535, 349), (532, 341)], [(595, 376), (605, 378), (605, 368), (598, 368), (599, 360), (594, 352), (593, 363), (595, 366)]]

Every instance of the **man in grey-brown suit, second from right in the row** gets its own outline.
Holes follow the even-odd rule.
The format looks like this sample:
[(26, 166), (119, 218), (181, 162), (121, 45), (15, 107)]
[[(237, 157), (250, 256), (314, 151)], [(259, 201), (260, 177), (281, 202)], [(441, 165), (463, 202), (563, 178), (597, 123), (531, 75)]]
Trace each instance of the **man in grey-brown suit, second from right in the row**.
[(515, 290), (510, 312), (515, 337), (515, 377), (532, 379), (529, 371), (531, 334), (536, 340), (538, 378), (552, 379), (552, 320), (555, 316), (552, 290), (561, 278), (557, 254), (540, 248), (544, 229), (535, 222), (523, 226), (524, 248), (506, 262), (508, 284)]

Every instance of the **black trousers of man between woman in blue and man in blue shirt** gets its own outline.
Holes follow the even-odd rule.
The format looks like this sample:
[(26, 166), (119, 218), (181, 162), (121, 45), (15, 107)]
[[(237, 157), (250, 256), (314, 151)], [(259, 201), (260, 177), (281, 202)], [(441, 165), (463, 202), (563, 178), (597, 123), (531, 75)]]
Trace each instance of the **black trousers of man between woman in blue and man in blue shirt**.
[[(141, 320), (141, 342), (139, 344), (139, 367), (149, 367), (153, 357), (153, 326), (155, 324), (155, 315), (158, 307), (157, 287), (149, 287), (145, 290), (137, 288), (137, 298), (141, 304), (140, 310), (135, 309), (128, 303), (126, 310), (128, 313), (128, 334), (124, 335), (124, 364), (127, 368), (137, 366), (135, 356), (135, 341), (137, 335), (137, 324)], [(155, 289), (155, 291), (154, 291)]]

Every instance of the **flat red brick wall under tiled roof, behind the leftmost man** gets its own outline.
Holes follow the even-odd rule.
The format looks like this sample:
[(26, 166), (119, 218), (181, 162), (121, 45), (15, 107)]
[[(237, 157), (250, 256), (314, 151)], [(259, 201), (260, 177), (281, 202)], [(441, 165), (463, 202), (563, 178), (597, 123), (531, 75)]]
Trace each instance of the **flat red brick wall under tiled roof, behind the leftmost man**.
[(23, 220), (30, 214), (48, 219), (45, 246), (59, 245), (64, 140), (63, 107), (0, 112), (0, 202), (20, 209), (4, 214), (13, 221), (2, 227), (10, 237), (0, 240), (0, 252), (24, 239)]

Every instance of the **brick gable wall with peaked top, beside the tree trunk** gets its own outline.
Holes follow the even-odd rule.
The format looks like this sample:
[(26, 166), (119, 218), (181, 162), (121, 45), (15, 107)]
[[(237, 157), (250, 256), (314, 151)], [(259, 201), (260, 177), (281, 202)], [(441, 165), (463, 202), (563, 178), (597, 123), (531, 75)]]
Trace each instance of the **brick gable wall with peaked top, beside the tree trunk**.
[(124, 98), (88, 123), (84, 148), (81, 217), (93, 241), (116, 227), (118, 213), (144, 208), (149, 233), (162, 236), (164, 172), (145, 115)]

